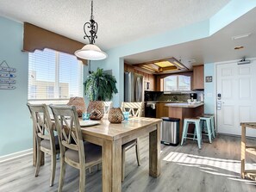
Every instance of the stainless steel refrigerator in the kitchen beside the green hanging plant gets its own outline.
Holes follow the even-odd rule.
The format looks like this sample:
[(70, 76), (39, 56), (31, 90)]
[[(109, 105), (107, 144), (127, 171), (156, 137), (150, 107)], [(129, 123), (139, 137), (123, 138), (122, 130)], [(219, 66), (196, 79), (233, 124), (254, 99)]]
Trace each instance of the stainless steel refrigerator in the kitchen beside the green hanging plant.
[(143, 76), (134, 72), (124, 73), (124, 101), (143, 102)]

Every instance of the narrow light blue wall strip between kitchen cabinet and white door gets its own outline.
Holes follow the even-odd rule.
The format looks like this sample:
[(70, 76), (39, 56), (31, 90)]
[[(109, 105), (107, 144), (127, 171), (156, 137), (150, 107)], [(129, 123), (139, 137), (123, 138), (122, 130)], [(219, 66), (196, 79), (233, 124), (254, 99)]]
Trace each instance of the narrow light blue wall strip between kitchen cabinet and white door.
[[(211, 76), (212, 82), (206, 83), (205, 77)], [(205, 114), (214, 114), (215, 113), (215, 65), (214, 64), (205, 64), (204, 65), (204, 113)]]

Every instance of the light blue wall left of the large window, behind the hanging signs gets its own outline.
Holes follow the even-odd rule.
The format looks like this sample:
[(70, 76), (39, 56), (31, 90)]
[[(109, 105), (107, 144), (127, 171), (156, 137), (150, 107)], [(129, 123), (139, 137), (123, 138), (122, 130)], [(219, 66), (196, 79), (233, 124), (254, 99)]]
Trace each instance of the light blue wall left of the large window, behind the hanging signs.
[(16, 90), (0, 90), (0, 156), (32, 147), (28, 101), (28, 53), (23, 53), (23, 25), (0, 17), (0, 62), (16, 68)]

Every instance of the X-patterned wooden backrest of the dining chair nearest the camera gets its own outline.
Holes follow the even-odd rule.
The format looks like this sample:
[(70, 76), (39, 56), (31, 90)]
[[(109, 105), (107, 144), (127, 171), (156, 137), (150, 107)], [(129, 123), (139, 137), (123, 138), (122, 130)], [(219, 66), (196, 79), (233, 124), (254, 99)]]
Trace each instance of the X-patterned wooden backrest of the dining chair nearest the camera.
[(85, 164), (84, 143), (75, 106), (50, 105), (59, 136), (60, 154), (66, 149), (78, 151), (79, 163)]

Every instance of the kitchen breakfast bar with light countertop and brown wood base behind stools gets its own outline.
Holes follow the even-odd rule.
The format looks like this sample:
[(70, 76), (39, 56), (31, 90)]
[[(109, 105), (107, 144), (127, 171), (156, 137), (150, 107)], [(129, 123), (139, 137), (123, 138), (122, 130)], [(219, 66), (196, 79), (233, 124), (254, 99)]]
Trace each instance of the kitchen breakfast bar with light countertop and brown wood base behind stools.
[(168, 116), (180, 119), (179, 121), (179, 139), (182, 137), (184, 118), (197, 117), (203, 114), (203, 102), (189, 104), (182, 103), (166, 103), (168, 107)]

